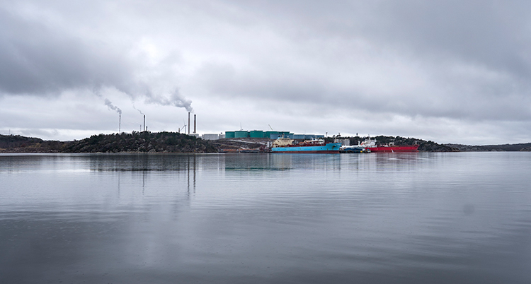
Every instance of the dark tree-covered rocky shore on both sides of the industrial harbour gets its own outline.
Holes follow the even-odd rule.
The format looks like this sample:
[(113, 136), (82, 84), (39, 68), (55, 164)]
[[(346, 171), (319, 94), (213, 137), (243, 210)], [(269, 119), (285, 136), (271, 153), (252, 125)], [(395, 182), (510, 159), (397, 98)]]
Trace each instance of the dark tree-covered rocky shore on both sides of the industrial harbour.
[[(327, 137), (326, 141), (348, 139), (358, 145), (367, 137)], [(531, 151), (531, 143), (469, 146), (439, 144), (418, 138), (374, 136), (377, 143), (395, 145), (418, 144), (421, 152), (459, 151)], [(79, 141), (45, 141), (41, 138), (0, 134), (0, 153), (216, 153), (227, 149), (263, 148), (267, 138), (225, 138), (207, 141), (176, 132), (132, 131), (127, 134), (98, 134)]]

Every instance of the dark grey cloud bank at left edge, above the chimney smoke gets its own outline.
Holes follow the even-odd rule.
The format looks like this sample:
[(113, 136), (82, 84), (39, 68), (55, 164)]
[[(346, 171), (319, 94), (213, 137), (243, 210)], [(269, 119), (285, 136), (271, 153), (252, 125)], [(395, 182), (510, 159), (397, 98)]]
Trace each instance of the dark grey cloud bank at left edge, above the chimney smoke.
[(127, 61), (57, 25), (27, 20), (0, 8), (0, 90), (50, 95), (69, 88), (125, 85)]

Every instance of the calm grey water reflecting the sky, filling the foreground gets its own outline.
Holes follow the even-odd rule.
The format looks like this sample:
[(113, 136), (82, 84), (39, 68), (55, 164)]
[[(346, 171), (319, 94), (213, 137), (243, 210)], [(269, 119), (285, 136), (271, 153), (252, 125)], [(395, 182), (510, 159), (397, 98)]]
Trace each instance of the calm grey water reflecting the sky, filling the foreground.
[(531, 153), (0, 155), (0, 283), (531, 283)]

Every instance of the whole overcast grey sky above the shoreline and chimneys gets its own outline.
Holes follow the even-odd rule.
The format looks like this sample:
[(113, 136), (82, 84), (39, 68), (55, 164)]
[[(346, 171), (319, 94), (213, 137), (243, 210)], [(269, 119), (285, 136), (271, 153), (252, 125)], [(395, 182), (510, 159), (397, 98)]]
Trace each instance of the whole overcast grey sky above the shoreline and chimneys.
[(149, 131), (178, 131), (191, 112), (198, 134), (529, 143), (528, 11), (531, 1), (0, 0), (0, 134), (141, 131), (142, 114)]

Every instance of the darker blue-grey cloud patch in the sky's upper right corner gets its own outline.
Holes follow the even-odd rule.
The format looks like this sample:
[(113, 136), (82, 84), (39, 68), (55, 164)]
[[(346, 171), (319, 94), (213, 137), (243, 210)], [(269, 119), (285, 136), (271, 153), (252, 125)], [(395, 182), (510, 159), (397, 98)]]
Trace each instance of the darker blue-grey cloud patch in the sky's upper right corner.
[(530, 20), (523, 11), (530, 8), (526, 1), (406, 1), (387, 9), (378, 34), (423, 54), (529, 76), (531, 37), (525, 26)]

